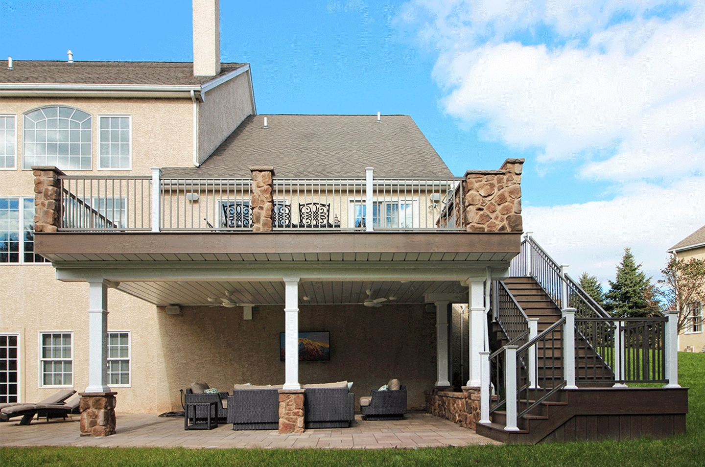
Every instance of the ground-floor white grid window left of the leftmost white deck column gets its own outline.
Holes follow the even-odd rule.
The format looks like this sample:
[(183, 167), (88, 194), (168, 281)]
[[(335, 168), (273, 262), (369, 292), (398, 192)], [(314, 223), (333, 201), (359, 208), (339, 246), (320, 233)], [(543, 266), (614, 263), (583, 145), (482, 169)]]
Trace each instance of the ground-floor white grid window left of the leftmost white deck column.
[(42, 332), (42, 386), (73, 386), (73, 335), (71, 332)]

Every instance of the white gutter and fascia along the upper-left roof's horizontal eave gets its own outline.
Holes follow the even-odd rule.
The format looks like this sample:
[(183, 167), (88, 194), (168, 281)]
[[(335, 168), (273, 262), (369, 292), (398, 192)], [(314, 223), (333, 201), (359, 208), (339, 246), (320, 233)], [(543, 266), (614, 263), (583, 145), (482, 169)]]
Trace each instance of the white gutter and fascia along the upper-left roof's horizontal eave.
[(116, 85), (75, 83), (2, 83), (2, 97), (200, 97), (200, 85)]

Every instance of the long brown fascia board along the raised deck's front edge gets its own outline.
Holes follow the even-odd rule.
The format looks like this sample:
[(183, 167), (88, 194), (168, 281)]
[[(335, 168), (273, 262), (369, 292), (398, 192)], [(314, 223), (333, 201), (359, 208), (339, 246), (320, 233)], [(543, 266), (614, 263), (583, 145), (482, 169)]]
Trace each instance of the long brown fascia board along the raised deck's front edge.
[(54, 232), (35, 253), (519, 253), (521, 232)]

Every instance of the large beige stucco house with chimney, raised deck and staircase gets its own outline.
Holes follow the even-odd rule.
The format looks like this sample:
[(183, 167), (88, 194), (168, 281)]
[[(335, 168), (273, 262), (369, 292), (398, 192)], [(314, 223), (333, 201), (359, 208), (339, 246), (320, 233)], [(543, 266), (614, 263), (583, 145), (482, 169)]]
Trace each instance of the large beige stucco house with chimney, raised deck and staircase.
[[(458, 177), (410, 116), (257, 114), (218, 16), (194, 1), (193, 63), (0, 67), (0, 402), (397, 378), (510, 442), (685, 430), (674, 321), (615, 322), (522, 238), (523, 159)], [(329, 358), (290, 358), (300, 332)]]

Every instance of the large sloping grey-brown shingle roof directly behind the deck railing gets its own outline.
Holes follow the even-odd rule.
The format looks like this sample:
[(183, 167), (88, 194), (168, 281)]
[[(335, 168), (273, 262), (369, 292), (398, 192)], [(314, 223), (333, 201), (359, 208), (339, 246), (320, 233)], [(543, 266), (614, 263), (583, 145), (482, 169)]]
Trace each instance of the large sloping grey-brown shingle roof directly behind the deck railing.
[[(264, 126), (264, 117), (267, 126)], [(276, 177), (452, 178), (453, 173), (408, 115), (249, 116), (200, 167), (163, 169), (169, 177), (250, 178), (250, 166)]]

